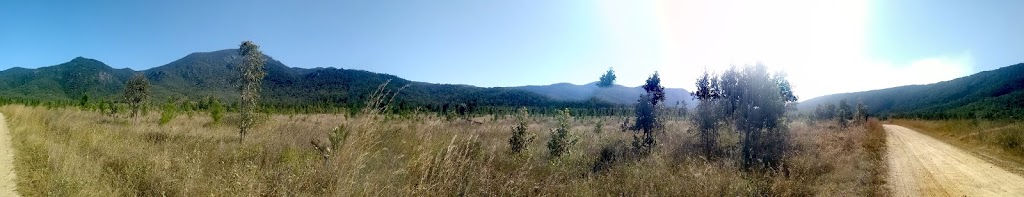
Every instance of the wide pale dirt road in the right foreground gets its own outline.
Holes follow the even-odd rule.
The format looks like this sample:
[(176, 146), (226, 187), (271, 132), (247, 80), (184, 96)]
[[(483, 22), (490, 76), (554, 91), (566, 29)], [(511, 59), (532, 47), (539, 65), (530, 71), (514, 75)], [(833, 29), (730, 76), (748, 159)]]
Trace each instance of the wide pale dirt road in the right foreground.
[(1024, 178), (897, 125), (888, 132), (894, 196), (1024, 196)]

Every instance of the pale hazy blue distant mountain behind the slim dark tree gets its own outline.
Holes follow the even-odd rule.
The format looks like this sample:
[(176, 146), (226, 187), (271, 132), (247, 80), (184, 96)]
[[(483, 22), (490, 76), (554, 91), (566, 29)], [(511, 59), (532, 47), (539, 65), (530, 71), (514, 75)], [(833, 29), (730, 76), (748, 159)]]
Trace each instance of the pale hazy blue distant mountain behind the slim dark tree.
[[(513, 87), (527, 91), (537, 92), (557, 101), (579, 102), (596, 98), (613, 104), (633, 105), (637, 103), (639, 95), (644, 93), (643, 87), (627, 87), (623, 85), (611, 85), (609, 87), (598, 87), (597, 82), (583, 85), (571, 83), (555, 83), (551, 85), (528, 85)], [(696, 106), (697, 102), (692, 100), (689, 91), (683, 88), (665, 88), (665, 104), (675, 107), (677, 102), (686, 102), (688, 107)]]

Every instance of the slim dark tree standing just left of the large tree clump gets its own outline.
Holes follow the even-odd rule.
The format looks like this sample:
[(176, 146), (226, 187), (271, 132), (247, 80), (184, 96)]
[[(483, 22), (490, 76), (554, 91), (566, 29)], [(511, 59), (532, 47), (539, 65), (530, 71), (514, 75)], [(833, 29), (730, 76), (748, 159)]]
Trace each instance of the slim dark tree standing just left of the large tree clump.
[(658, 104), (665, 102), (665, 87), (662, 86), (657, 72), (647, 78), (643, 89), (646, 93), (640, 95), (640, 100), (637, 101), (636, 122), (630, 130), (634, 131), (633, 147), (641, 153), (649, 153), (655, 145), (654, 131), (662, 126), (657, 117)]

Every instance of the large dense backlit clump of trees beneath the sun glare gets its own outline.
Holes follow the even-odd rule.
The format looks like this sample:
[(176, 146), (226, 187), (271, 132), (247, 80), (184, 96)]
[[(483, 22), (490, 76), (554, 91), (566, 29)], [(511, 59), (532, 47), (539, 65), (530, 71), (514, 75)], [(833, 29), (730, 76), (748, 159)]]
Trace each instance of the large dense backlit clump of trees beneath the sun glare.
[(705, 72), (697, 78), (694, 97), (700, 100), (690, 120), (697, 128), (705, 154), (717, 147), (718, 125), (731, 124), (743, 134), (740, 142), (744, 168), (778, 167), (785, 152), (788, 128), (786, 105), (797, 96), (783, 74), (769, 74), (763, 65), (730, 68), (721, 77)]

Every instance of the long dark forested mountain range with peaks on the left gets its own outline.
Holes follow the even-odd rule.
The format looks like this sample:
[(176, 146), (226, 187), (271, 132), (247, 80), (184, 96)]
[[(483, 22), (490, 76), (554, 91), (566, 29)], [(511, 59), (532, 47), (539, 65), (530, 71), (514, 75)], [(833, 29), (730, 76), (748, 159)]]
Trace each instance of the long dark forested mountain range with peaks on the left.
[[(398, 108), (451, 109), (453, 106), (613, 108), (620, 101), (552, 98), (543, 93), (513, 87), (475, 87), (409, 81), (393, 75), (337, 68), (289, 68), (266, 56), (263, 79), (264, 104), (275, 108), (297, 106), (357, 107), (387, 82), (387, 90), (398, 91)], [(152, 103), (168, 98), (199, 101), (206, 97), (228, 103), (238, 100), (241, 62), (237, 49), (196, 52), (164, 66), (140, 71), (153, 85)], [(69, 63), (39, 69), (13, 68), (0, 72), (0, 96), (35, 101), (78, 101), (83, 94), (93, 101), (119, 101), (124, 82), (136, 71), (113, 69), (95, 60), (78, 57)], [(402, 88), (404, 87), (404, 88)], [(616, 95), (636, 102), (639, 92)]]

